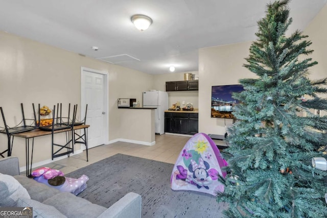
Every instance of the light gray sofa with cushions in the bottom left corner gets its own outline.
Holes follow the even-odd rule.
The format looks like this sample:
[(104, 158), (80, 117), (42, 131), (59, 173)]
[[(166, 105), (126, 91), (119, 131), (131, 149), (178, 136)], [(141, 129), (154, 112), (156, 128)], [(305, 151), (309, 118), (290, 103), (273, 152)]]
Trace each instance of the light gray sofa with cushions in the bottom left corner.
[[(129, 192), (105, 208), (20, 176), (17, 157), (1, 158), (0, 173), (0, 206), (33, 207), (33, 217), (141, 217), (141, 196), (137, 193)], [(13, 190), (15, 184), (21, 189)]]

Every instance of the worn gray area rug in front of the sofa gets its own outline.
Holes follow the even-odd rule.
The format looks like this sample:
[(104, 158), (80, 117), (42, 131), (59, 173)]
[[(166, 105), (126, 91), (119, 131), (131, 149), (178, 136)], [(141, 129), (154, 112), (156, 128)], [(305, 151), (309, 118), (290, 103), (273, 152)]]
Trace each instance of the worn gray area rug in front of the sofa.
[[(128, 192), (142, 196), (142, 217), (223, 217), (227, 205), (195, 191), (174, 191), (170, 177), (174, 164), (116, 154), (65, 176), (89, 177), (78, 196), (110, 207)], [(126, 217), (129, 218), (129, 217)]]

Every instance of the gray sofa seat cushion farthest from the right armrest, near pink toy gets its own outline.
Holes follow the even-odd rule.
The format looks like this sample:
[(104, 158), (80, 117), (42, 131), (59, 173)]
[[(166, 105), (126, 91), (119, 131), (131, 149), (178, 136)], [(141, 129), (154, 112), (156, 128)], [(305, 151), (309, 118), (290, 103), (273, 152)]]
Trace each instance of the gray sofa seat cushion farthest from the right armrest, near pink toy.
[(29, 179), (26, 176), (14, 176), (14, 178), (27, 189), (31, 199), (39, 202), (43, 202), (44, 200), (57, 195), (57, 193), (60, 193), (59, 190), (39, 183), (34, 179)]

